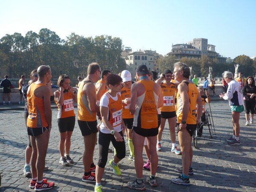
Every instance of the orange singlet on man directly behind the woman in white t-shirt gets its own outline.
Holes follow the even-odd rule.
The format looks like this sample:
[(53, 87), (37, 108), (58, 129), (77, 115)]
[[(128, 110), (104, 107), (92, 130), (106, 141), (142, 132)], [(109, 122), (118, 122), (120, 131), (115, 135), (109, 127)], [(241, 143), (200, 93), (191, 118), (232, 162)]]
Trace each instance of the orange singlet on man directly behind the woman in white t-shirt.
[[(78, 93), (77, 93), (78, 118), (77, 119), (80, 121), (96, 121), (97, 120), (96, 112), (92, 112), (90, 110), (87, 96), (84, 95), (82, 91), (84, 84), (86, 83), (91, 83), (91, 81), (81, 81), (81, 84), (78, 89)], [(95, 90), (92, 90), (92, 91), (95, 91)]]

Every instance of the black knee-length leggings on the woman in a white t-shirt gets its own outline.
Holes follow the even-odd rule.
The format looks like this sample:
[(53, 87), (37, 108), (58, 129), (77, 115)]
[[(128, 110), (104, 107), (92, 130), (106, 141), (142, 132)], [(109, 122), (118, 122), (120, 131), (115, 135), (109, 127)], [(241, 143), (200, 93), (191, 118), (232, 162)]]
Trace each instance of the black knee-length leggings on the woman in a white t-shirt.
[(119, 159), (125, 158), (125, 139), (122, 134), (122, 131), (120, 131), (119, 134), (122, 135), (123, 141), (116, 141), (114, 135), (104, 134), (101, 131), (99, 131), (99, 161), (97, 164), (99, 167), (105, 168), (105, 165), (108, 161), (108, 147), (110, 141), (116, 149), (116, 157)]

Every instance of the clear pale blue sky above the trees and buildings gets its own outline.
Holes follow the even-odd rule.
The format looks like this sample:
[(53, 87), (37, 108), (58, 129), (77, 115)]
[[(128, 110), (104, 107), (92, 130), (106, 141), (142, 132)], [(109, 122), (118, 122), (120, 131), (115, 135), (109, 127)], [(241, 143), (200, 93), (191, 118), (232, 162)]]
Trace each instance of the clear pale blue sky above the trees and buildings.
[(256, 0), (1, 0), (0, 38), (47, 28), (65, 39), (111, 35), (166, 55), (207, 38), (226, 57), (256, 55)]

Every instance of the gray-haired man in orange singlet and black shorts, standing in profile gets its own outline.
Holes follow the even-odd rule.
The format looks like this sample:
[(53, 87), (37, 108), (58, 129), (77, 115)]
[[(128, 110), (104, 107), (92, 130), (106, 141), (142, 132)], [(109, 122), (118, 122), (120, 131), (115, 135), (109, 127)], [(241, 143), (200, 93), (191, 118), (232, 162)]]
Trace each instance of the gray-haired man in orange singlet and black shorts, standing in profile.
[[(197, 123), (201, 118), (203, 103), (198, 88), (194, 83), (189, 81), (189, 67), (181, 62), (175, 63), (173, 72), (174, 79), (180, 81), (177, 93), (177, 133), (182, 151), (182, 167), (176, 168), (181, 173), (177, 178), (172, 178), (172, 183), (189, 186), (189, 175), (193, 175), (192, 169), (192, 136), (196, 129)], [(196, 114), (196, 105), (197, 116)], [(136, 159), (136, 158), (135, 158)]]

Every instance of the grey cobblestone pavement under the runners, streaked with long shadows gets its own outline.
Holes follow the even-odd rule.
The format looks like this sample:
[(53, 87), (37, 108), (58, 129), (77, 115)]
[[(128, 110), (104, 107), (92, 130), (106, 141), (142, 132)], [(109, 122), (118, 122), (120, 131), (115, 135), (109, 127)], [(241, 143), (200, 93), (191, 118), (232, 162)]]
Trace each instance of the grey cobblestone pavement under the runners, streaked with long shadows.
[[(181, 165), (181, 155), (171, 152), (172, 143), (169, 139), (169, 129), (166, 127), (162, 139), (162, 152), (159, 155), (159, 168), (157, 169), (158, 186), (151, 188), (146, 185), (147, 191), (154, 192), (221, 192), (241, 191), (252, 192), (256, 188), (256, 129), (255, 124), (245, 126), (244, 113), (241, 114), (241, 145), (227, 145), (226, 137), (232, 134), (231, 112), (226, 101), (213, 101), (211, 103), (212, 115), (216, 135), (212, 139), (209, 131), (204, 128), (204, 133), (199, 138), (198, 149), (194, 148), (193, 169), (194, 175), (190, 176), (191, 186), (178, 186), (172, 184), (170, 178), (177, 177), (175, 166)], [(76, 122), (72, 136), (70, 156), (75, 164), (68, 167), (58, 163), (59, 132), (57, 125), (57, 109), (52, 109), (52, 132), (46, 157), (49, 169), (44, 177), (54, 181), (55, 186), (49, 191), (93, 191), (94, 183), (81, 181), (83, 175), (82, 154), (84, 150), (83, 138)], [(6, 191), (33, 191), (29, 188), (31, 177), (23, 175), (25, 163), (25, 148), (27, 134), (24, 125), (23, 111), (0, 111), (0, 174), (2, 185), (0, 192)], [(177, 141), (178, 143), (178, 141)], [(110, 147), (113, 148), (111, 145)], [(128, 181), (136, 177), (134, 162), (128, 160), (128, 146), (126, 157), (120, 162), (122, 176), (113, 174), (108, 164), (102, 179), (102, 191), (130, 192)], [(94, 154), (94, 163), (97, 163), (98, 145)], [(110, 160), (113, 153), (108, 155)], [(146, 160), (145, 154), (143, 154)], [(148, 171), (143, 171), (144, 180)]]

